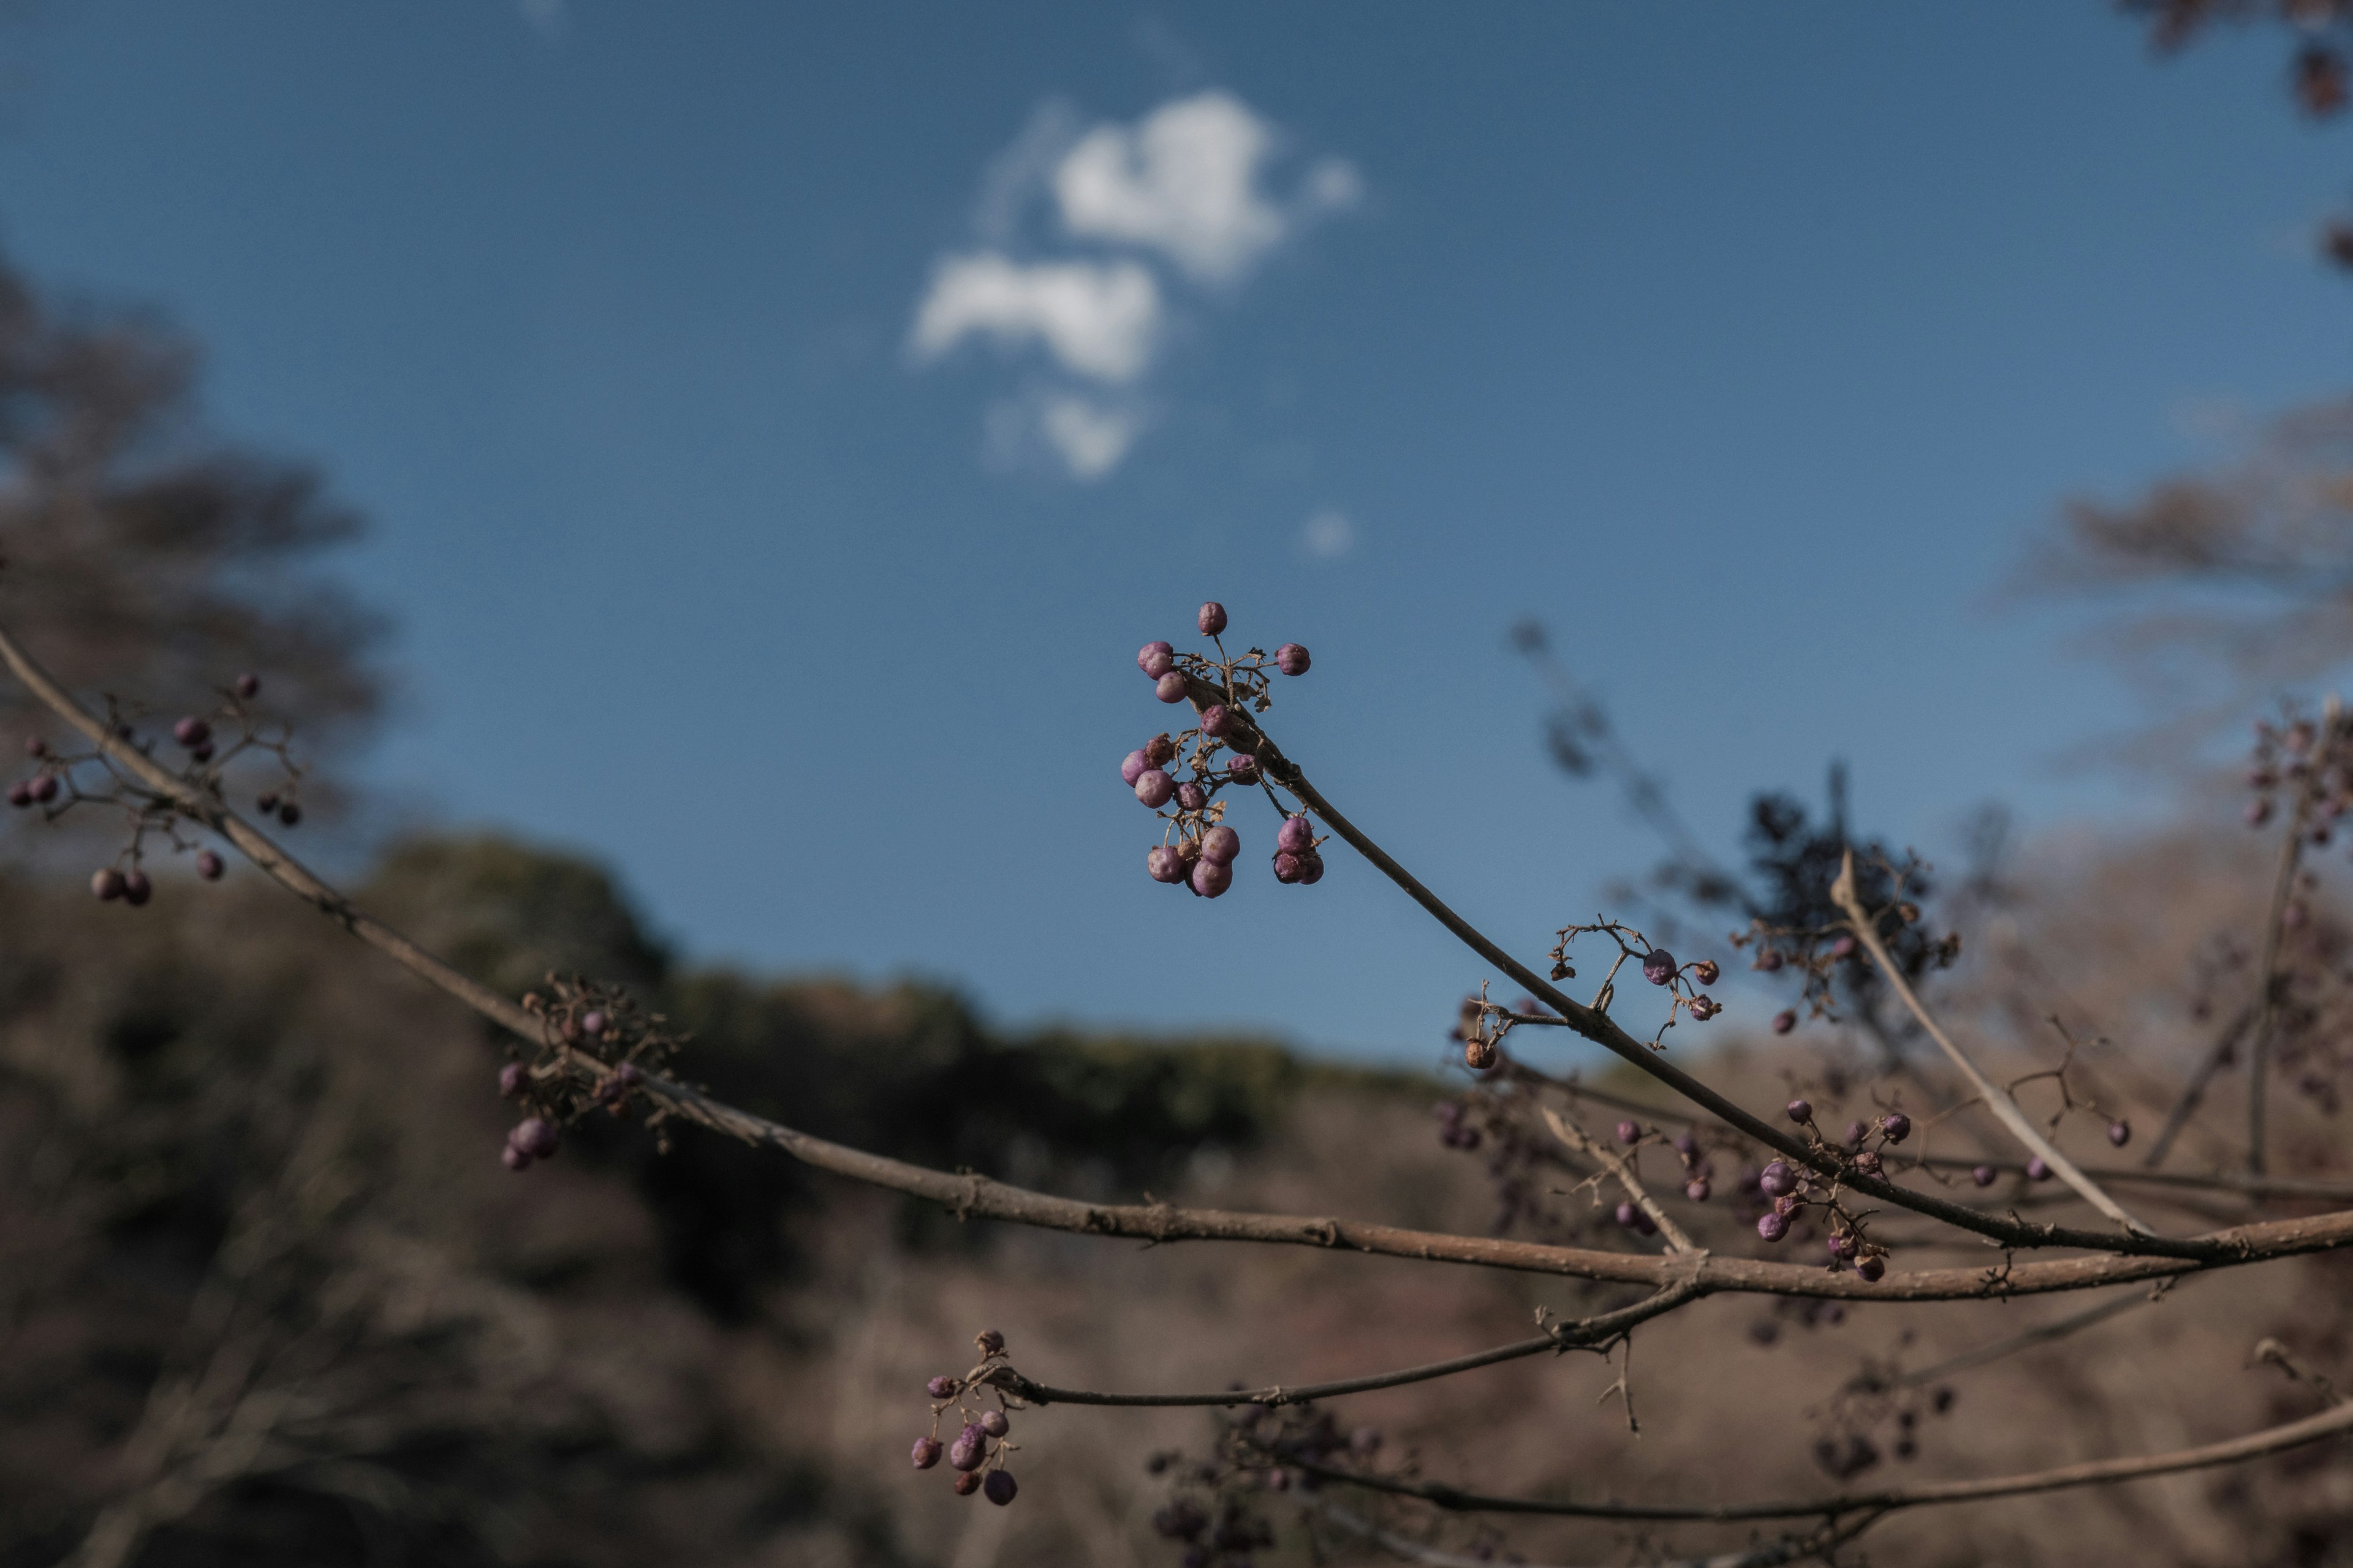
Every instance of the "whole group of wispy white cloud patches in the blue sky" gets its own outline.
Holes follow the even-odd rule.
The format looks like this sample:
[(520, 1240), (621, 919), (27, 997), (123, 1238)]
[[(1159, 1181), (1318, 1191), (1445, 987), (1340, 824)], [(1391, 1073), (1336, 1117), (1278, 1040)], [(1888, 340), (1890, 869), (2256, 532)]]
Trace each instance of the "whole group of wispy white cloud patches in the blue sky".
[[(974, 207), (979, 244), (934, 263), (908, 353), (927, 364), (979, 336), (1012, 353), (1042, 348), (1059, 376), (1132, 393), (1169, 339), (1174, 306), (1158, 268), (1209, 287), (1198, 299), (1217, 303), (1308, 223), (1362, 200), (1362, 176), (1339, 158), (1297, 169), (1278, 190), (1282, 153), (1282, 132), (1231, 92), (1092, 129), (1064, 103), (1040, 106), (988, 162)], [(1045, 202), (1059, 223), (1024, 247), (1024, 226)], [(1096, 254), (1073, 256), (1073, 247)], [(1033, 259), (1052, 249), (1066, 254)], [(991, 409), (991, 451), (1007, 458), (1035, 447), (1073, 480), (1099, 480), (1144, 433), (1139, 407), (1132, 395), (1073, 386), (1033, 390)], [(1026, 423), (1016, 430), (1014, 421)]]

